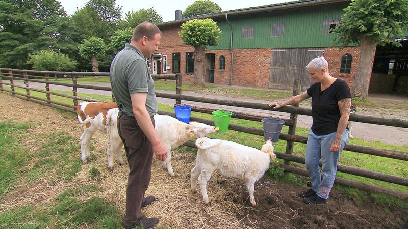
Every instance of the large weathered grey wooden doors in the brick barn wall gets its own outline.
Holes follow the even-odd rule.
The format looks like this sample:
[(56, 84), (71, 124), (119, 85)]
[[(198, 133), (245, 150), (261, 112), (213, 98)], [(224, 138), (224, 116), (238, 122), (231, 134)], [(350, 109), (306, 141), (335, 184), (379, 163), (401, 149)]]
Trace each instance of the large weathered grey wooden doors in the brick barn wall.
[(312, 85), (305, 66), (316, 56), (322, 56), (324, 49), (286, 48), (271, 50), (269, 88), (293, 90), (293, 80), (300, 79), (304, 91)]

